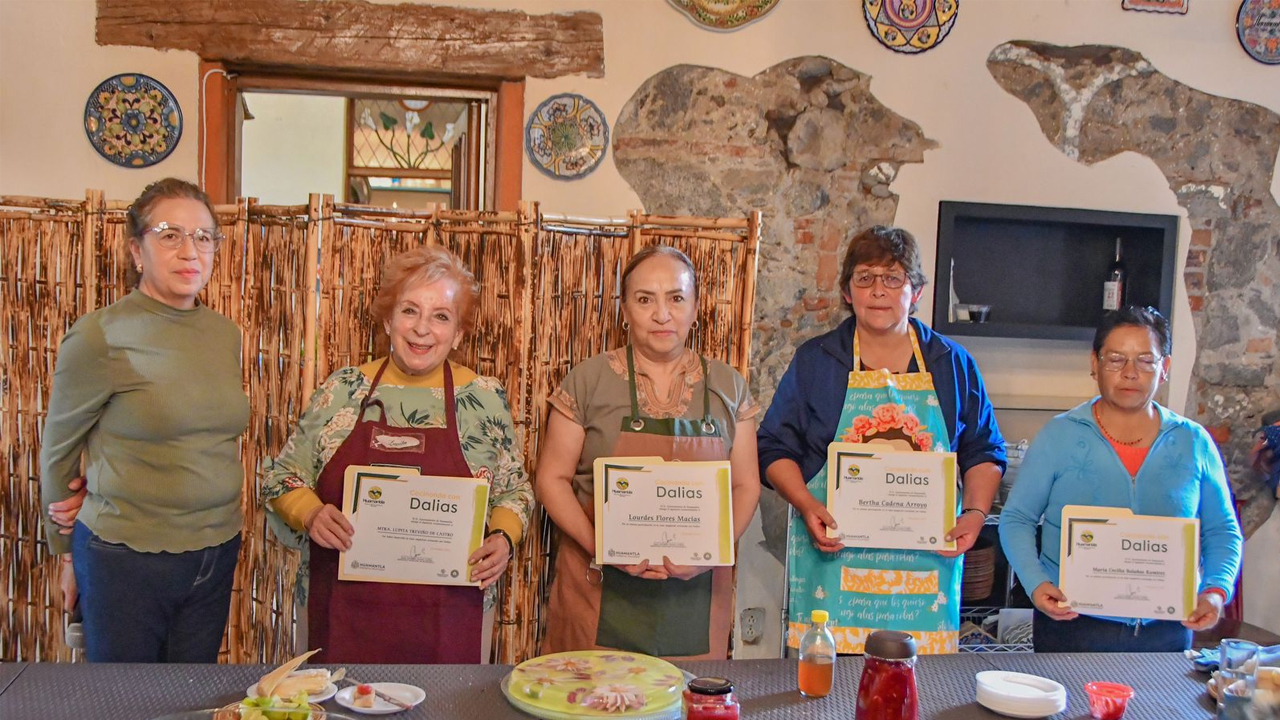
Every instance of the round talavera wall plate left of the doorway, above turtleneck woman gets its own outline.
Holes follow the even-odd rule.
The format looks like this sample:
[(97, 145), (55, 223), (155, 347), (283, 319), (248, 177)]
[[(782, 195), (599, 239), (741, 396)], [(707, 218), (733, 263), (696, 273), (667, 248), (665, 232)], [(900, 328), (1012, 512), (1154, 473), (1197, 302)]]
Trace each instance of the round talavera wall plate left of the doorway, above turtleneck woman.
[(182, 137), (182, 109), (169, 88), (143, 74), (119, 74), (84, 102), (84, 135), (97, 154), (125, 168), (164, 160)]

